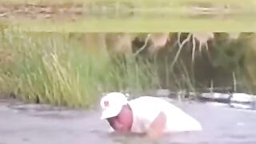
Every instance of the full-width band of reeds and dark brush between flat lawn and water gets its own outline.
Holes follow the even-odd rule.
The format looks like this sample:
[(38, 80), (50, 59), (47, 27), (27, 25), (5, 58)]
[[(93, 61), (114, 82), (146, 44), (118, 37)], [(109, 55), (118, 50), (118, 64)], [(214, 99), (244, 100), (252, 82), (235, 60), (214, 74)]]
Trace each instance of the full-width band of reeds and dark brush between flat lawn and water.
[[(171, 41), (157, 53), (150, 53), (148, 46), (136, 58), (133, 54), (116, 55), (113, 50), (122, 51), (122, 42), (126, 42), (119, 36), (107, 38), (107, 47), (96, 44), (102, 37), (94, 34), (84, 39), (82, 33), (34, 33), (2, 26), (0, 93), (27, 102), (89, 108), (102, 93), (114, 90), (141, 93), (164, 87), (193, 91), (238, 84), (242, 91), (256, 91), (255, 34), (243, 33), (235, 39), (225, 33), (214, 34), (208, 43), (210, 58), (192, 39), (178, 52), (175, 34), (169, 35)], [(182, 40), (186, 37), (181, 36)], [(138, 43), (140, 48), (143, 42)], [(192, 62), (193, 45), (197, 50)]]

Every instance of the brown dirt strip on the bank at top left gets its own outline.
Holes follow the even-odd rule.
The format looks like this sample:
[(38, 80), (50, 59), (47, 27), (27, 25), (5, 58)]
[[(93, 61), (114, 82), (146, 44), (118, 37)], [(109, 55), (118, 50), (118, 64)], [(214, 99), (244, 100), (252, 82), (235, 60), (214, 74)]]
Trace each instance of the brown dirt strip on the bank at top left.
[(0, 19), (9, 18), (32, 18), (50, 19), (66, 18), (75, 19), (87, 14), (86, 9), (81, 4), (62, 5), (29, 5), (29, 4), (6, 4), (0, 6)]

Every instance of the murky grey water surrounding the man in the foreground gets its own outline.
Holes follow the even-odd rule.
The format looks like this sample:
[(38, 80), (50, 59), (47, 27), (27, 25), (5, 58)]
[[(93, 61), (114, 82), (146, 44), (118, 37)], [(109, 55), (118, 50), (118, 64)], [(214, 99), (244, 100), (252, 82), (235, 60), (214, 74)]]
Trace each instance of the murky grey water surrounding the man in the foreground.
[(0, 100), (0, 144), (255, 143), (256, 111), (214, 103), (182, 103), (202, 122), (201, 132), (171, 134), (151, 142), (136, 135), (109, 134), (98, 110), (67, 110)]

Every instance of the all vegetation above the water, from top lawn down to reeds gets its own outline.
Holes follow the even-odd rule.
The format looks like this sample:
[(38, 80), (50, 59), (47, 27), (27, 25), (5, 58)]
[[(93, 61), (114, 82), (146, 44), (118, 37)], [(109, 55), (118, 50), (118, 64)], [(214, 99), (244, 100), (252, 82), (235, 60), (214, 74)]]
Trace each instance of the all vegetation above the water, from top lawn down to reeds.
[(90, 107), (112, 90), (256, 90), (255, 34), (210, 33), (254, 31), (253, 0), (0, 3), (0, 92), (24, 101)]

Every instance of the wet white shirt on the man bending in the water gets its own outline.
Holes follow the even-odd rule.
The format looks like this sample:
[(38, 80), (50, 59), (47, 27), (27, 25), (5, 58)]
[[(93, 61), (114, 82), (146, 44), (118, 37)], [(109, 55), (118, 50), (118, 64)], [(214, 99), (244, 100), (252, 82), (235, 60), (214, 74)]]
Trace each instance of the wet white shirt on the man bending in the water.
[(161, 111), (166, 114), (166, 133), (202, 130), (197, 120), (161, 98), (144, 96), (131, 100), (129, 105), (134, 117), (131, 132), (145, 133)]

